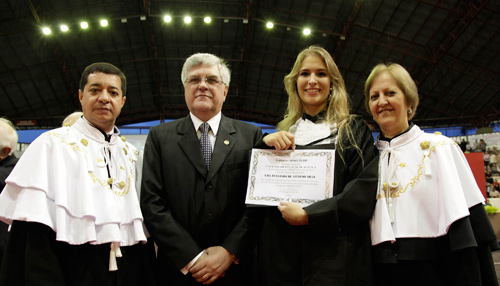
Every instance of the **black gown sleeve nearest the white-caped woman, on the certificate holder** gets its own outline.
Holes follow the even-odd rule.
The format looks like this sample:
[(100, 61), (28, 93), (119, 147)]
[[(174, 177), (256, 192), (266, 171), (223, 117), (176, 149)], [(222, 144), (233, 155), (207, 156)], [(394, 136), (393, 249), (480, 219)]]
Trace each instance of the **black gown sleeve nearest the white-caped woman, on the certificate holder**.
[[(373, 137), (361, 117), (350, 121), (354, 140), (359, 149), (344, 138), (344, 149), (337, 148), (333, 197), (305, 208), (309, 225), (330, 225), (338, 231), (367, 223), (375, 209), (377, 192), (378, 151)], [(360, 151), (360, 152), (359, 152)]]

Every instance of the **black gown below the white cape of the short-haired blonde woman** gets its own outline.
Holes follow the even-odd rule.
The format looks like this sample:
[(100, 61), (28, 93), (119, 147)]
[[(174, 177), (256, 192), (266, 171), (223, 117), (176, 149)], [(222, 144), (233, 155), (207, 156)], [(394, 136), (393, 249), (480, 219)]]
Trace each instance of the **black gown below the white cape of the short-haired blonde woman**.
[[(492, 251), (499, 250), (482, 204), (437, 238), (398, 238), (373, 247), (375, 285), (497, 286)], [(422, 274), (422, 275), (415, 275)]]

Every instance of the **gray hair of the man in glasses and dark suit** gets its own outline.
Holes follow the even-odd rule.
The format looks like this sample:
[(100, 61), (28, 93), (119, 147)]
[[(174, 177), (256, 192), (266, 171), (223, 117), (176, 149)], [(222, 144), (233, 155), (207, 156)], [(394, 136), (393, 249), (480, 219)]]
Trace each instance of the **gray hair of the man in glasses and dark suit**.
[(217, 66), (219, 68), (219, 73), (222, 78), (222, 82), (226, 85), (229, 86), (229, 83), (231, 82), (231, 71), (229, 70), (229, 67), (227, 66), (226, 61), (224, 59), (219, 58), (215, 55), (212, 54), (207, 54), (207, 53), (197, 53), (189, 58), (186, 59), (184, 62), (184, 65), (182, 66), (182, 73), (181, 73), (181, 81), (182, 84), (185, 86), (186, 85), (186, 80), (187, 80), (187, 74), (188, 72), (195, 66), (199, 66), (202, 64), (210, 65), (210, 66)]

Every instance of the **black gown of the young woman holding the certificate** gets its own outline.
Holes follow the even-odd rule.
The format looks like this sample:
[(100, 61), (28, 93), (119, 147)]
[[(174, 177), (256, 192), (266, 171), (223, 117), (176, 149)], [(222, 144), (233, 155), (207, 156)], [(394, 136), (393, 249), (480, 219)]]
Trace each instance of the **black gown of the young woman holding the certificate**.
[(249, 224), (261, 227), (255, 285), (372, 285), (368, 222), (375, 208), (378, 151), (361, 117), (350, 126), (362, 157), (354, 148), (337, 150), (334, 195), (305, 207), (308, 225), (291, 226), (276, 207), (248, 208)]

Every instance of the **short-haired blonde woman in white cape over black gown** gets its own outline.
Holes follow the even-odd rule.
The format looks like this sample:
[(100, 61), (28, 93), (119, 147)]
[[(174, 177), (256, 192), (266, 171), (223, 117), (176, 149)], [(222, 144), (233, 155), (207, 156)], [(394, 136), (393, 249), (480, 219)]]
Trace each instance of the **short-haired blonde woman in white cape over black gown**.
[(484, 197), (460, 147), (411, 122), (418, 101), (399, 64), (379, 64), (366, 80), (366, 108), (380, 127), (376, 285), (498, 285)]

